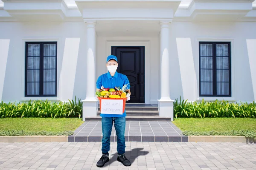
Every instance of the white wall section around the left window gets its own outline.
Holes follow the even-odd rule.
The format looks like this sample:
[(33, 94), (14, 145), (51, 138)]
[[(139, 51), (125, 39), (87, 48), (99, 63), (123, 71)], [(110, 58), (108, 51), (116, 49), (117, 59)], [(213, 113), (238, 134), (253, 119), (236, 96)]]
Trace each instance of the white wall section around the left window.
[(86, 95), (86, 31), (84, 22), (0, 22), (0, 101), (44, 99), (24, 97), (25, 40), (58, 40), (57, 97), (84, 99)]

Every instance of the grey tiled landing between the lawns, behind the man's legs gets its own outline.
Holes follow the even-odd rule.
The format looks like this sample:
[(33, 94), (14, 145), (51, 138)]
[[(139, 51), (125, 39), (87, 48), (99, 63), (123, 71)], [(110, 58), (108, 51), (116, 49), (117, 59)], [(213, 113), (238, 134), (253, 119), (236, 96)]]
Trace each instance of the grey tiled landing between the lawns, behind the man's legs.
[[(125, 141), (127, 142), (188, 142), (188, 136), (172, 122), (126, 121)], [(84, 122), (75, 130), (69, 142), (101, 142), (102, 122)], [(114, 124), (111, 142), (116, 142)]]

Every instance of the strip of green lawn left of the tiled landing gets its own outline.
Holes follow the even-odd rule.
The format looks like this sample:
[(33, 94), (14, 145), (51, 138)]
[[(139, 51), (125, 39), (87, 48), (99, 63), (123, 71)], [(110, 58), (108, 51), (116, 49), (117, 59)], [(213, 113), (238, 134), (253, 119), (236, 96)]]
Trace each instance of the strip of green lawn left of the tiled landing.
[(82, 123), (79, 118), (3, 118), (0, 136), (72, 135)]

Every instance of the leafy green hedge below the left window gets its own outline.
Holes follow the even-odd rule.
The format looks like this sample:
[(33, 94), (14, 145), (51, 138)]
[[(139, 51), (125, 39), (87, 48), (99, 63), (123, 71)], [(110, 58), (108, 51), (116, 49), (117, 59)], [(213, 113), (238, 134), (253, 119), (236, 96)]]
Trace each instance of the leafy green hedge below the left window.
[(35, 100), (31, 102), (15, 103), (9, 102), (8, 104), (3, 101), (0, 103), (0, 118), (6, 117), (81, 117), (82, 115), (82, 102), (79, 99), (76, 103), (74, 100), (69, 102), (49, 102)]

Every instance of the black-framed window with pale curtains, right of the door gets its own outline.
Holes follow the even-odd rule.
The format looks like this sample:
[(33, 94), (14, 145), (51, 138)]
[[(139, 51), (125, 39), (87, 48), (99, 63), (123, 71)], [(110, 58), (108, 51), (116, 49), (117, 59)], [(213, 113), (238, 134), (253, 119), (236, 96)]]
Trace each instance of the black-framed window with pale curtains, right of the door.
[(199, 42), (200, 96), (231, 96), (230, 42)]

